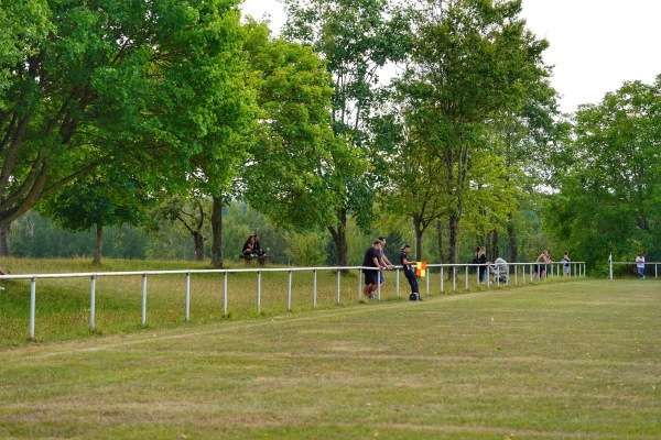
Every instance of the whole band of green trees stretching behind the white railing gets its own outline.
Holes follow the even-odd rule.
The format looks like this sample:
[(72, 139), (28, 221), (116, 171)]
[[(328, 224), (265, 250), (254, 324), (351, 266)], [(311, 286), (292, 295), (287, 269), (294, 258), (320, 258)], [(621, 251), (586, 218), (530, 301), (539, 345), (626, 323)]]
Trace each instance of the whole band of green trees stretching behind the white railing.
[(0, 7), (0, 253), (661, 257), (661, 77), (562, 116), (520, 0), (284, 3), (278, 38), (237, 0)]

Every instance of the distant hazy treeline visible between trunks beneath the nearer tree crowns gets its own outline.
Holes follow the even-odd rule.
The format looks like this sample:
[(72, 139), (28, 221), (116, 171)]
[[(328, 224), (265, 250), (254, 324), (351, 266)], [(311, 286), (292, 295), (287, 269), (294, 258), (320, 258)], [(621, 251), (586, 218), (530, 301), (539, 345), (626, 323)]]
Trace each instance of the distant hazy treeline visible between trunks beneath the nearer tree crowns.
[[(294, 233), (278, 231), (268, 217), (257, 212), (246, 204), (232, 201), (224, 208), (223, 254), (226, 261), (240, 261), (239, 254), (243, 241), (249, 234), (259, 233), (264, 251), (271, 256), (271, 262), (278, 265), (297, 266), (333, 266), (336, 261), (333, 239), (327, 231)], [(530, 212), (531, 218), (534, 217)], [(414, 238), (412, 227), (376, 224), (378, 233), (364, 233), (353, 219), (348, 221), (348, 263), (351, 266), (362, 264), (365, 251), (371, 245), (377, 235), (387, 238), (386, 253), (392, 262), (398, 262), (398, 255), (404, 243), (411, 243)], [(537, 231), (522, 237), (522, 261), (531, 261), (542, 248), (557, 248), (557, 243), (548, 242), (540, 231), (540, 219), (528, 223), (527, 230)], [(210, 233), (210, 226), (203, 228), (203, 234)], [(434, 253), (435, 238), (429, 237), (424, 248), (430, 251), (425, 255), (430, 262), (441, 261)], [(459, 261), (469, 263), (473, 260), (470, 238), (466, 246), (462, 246)], [(508, 250), (509, 238), (500, 238), (496, 246), (503, 249), (501, 254), (510, 260)], [(96, 230), (69, 231), (62, 229), (36, 211), (22, 216), (12, 228), (11, 246), (13, 254), (19, 257), (91, 257), (96, 245)], [(158, 230), (144, 226), (122, 224), (109, 227), (104, 232), (104, 255), (110, 258), (124, 260), (181, 260), (195, 261), (195, 243), (189, 231), (181, 222), (163, 221)], [(204, 246), (203, 258), (210, 258), (210, 248)]]

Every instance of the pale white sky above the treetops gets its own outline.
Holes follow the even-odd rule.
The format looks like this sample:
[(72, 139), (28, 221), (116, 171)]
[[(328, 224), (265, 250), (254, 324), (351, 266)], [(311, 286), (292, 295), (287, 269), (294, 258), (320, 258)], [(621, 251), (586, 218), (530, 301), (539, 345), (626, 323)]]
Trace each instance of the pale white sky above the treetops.
[[(245, 0), (242, 9), (256, 19), (269, 14), (275, 34), (285, 21), (277, 0)], [(661, 74), (661, 0), (523, 0), (522, 16), (551, 44), (544, 61), (555, 66), (551, 81), (564, 112)]]

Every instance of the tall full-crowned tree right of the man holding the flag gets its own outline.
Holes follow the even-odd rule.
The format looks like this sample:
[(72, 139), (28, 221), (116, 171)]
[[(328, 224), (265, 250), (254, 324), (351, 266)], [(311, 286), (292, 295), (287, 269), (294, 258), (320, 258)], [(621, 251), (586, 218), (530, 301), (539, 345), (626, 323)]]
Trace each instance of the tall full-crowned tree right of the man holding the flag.
[[(528, 94), (549, 76), (545, 41), (518, 14), (520, 1), (420, 2), (415, 48), (395, 86), (412, 109), (416, 141), (442, 164), (438, 188), (449, 201), (448, 262), (456, 263), (460, 221), (476, 164), (488, 160), (494, 121), (519, 114)], [(492, 156), (491, 156), (492, 157)]]

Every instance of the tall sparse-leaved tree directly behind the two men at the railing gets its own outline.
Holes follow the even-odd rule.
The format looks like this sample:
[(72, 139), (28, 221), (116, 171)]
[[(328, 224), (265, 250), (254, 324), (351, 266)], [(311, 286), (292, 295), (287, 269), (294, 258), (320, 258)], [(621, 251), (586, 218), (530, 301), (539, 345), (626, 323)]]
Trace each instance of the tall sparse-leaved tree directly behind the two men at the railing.
[[(337, 250), (337, 265), (348, 258), (347, 219), (351, 213), (367, 229), (379, 170), (368, 160), (369, 121), (378, 99), (379, 70), (403, 57), (409, 44), (408, 18), (386, 0), (285, 0), (283, 35), (312, 45), (333, 75), (333, 131), (346, 140), (343, 155), (327, 174), (335, 194), (334, 222), (328, 224)], [(371, 168), (371, 169), (370, 169)]]

